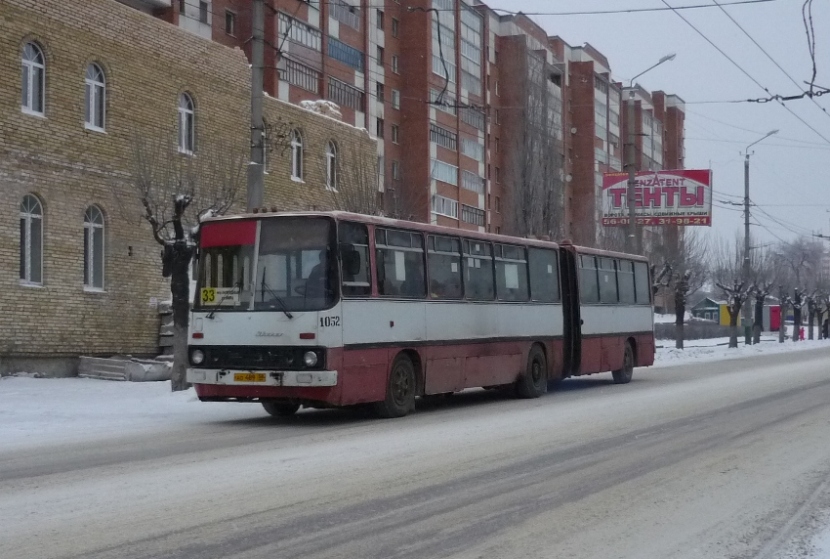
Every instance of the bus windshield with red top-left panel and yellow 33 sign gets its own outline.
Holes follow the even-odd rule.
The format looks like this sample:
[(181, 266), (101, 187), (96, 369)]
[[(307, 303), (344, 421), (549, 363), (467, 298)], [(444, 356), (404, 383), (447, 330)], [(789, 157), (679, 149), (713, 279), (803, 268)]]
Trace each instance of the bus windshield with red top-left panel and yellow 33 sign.
[(288, 313), (331, 307), (337, 300), (332, 237), (328, 218), (206, 223), (196, 307)]

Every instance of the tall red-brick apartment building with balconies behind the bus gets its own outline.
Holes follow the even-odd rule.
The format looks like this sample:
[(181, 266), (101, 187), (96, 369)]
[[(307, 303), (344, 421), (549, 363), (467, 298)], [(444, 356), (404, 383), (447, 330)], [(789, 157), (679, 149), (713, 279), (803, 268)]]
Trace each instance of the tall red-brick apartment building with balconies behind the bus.
[[(250, 57), (252, 0), (122, 1), (167, 3), (154, 13), (188, 29), (183, 20), (198, 16), (215, 41)], [(267, 0), (265, 35), (269, 95), (334, 101), (377, 139), (387, 213), (604, 242), (602, 174), (623, 170), (624, 100), (590, 44), (571, 46), (480, 0)], [(682, 114), (679, 98), (662, 95), (655, 116), (638, 89), (649, 130), (638, 136), (638, 168), (662, 168), (664, 120)], [(681, 159), (682, 117), (673, 126)]]

